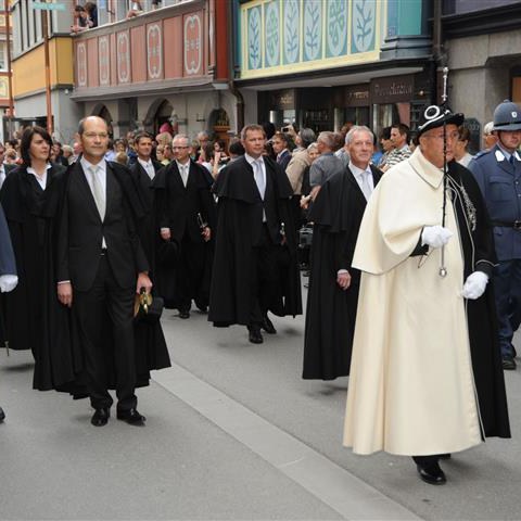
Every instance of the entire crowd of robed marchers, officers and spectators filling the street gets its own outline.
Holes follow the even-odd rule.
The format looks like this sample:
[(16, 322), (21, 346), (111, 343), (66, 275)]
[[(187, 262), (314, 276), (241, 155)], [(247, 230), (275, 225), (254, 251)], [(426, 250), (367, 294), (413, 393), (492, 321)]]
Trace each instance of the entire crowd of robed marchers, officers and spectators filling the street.
[(302, 272), (302, 374), (350, 376), (344, 445), (443, 484), (441, 459), (510, 437), (521, 322), (521, 109), (498, 104), (474, 156), (463, 120), (431, 105), (414, 139), (346, 123), (192, 141), (164, 124), (112, 141), (89, 116), (71, 147), (26, 128), (0, 145), (0, 341), (31, 350), (34, 389), (88, 397), (93, 425), (111, 390), (143, 425), (136, 389), (170, 364), (163, 308), (262, 344), (303, 313)]

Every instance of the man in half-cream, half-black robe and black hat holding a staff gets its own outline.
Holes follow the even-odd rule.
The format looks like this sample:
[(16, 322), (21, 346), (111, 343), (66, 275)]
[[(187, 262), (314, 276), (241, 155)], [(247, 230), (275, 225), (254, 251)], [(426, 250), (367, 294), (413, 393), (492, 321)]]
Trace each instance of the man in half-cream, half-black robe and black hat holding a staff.
[(488, 217), (471, 174), (452, 161), (463, 116), (435, 109), (420, 147), (382, 177), (360, 226), (344, 445), (415, 456), (421, 479), (442, 484), (440, 457), (510, 432), (486, 288), (495, 263)]

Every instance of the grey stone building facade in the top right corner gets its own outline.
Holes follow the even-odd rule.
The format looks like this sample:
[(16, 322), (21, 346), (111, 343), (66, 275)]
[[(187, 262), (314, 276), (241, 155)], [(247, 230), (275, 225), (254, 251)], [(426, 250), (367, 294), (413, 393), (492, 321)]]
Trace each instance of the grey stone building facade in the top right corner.
[(441, 23), (449, 102), (466, 114), (476, 152), (497, 104), (521, 105), (521, 2), (445, 0)]

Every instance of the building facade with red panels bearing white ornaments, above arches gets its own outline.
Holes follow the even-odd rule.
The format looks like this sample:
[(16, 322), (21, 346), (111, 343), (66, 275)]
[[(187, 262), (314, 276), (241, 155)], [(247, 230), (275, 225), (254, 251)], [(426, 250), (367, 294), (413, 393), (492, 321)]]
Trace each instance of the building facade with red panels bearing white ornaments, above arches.
[(228, 139), (240, 101), (229, 85), (230, 7), (186, 0), (79, 34), (72, 99), (111, 122), (114, 137), (169, 123)]

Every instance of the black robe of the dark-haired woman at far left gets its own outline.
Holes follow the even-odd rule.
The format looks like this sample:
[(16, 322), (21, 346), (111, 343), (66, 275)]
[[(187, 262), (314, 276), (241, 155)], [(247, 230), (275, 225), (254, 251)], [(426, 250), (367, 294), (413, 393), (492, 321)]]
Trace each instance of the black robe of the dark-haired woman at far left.
[(18, 284), (3, 295), (7, 340), (12, 350), (31, 350), (34, 389), (68, 390), (81, 365), (72, 341), (71, 314), (58, 300), (54, 277), (58, 207), (65, 168), (53, 165), (42, 190), (25, 167), (12, 171), (0, 200), (13, 242)]

